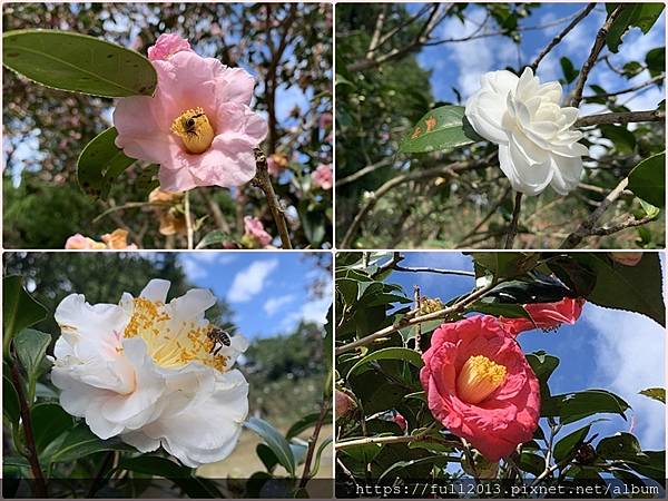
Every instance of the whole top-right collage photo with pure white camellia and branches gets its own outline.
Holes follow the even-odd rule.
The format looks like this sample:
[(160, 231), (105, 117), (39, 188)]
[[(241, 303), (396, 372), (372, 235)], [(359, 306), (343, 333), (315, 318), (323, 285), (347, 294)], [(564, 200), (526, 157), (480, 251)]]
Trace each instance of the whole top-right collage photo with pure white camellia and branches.
[[(664, 6), (589, 3), (551, 22), (546, 9), (337, 9), (338, 248), (664, 246), (665, 101), (630, 102), (662, 89)], [(587, 50), (566, 52), (578, 37)], [(631, 43), (648, 49), (629, 57)], [(539, 79), (554, 58), (562, 78)], [(443, 88), (452, 100), (433, 97)]]

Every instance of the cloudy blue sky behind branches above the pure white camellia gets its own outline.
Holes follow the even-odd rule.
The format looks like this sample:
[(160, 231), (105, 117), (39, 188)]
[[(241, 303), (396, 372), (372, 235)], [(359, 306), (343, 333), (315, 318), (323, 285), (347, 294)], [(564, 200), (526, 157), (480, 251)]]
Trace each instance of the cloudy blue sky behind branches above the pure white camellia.
[[(416, 11), (421, 6), (421, 3), (411, 4), (410, 10)], [(529, 17), (521, 19), (520, 27), (550, 24), (574, 14), (584, 8), (584, 3), (543, 3), (533, 9)], [(466, 16), (466, 20), (463, 23), (456, 18), (450, 18), (441, 23), (434, 33), (434, 39), (459, 39), (471, 35), (478, 29), (478, 24), (484, 20), (485, 10), (482, 7), (469, 3), (464, 14)], [(582, 22), (566, 36), (561, 43), (541, 61), (537, 72), (541, 81), (562, 78), (559, 63), (561, 57), (568, 57), (577, 69), (582, 67), (605, 17), (605, 4), (599, 3)], [(456, 87), (465, 101), (480, 87), (481, 75), (487, 71), (504, 69), (507, 66), (518, 69), (529, 65), (569, 22), (570, 20), (566, 20), (554, 27), (522, 32), (522, 40), (519, 47), (520, 65), (518, 65), (518, 46), (509, 37), (501, 36), (426, 47), (420, 52), (418, 59), (423, 68), (433, 71), (431, 84), (436, 100), (455, 101), (456, 98), (452, 91), (452, 87)], [(642, 62), (648, 50), (665, 46), (665, 22), (664, 13), (647, 36), (644, 36), (638, 28), (629, 31), (622, 39), (623, 43), (620, 46), (619, 53), (611, 56), (611, 62), (615, 67), (621, 68), (626, 62), (631, 60)], [(498, 31), (498, 27), (493, 21), (490, 21), (483, 32), (493, 31)], [(608, 53), (607, 48), (601, 52), (601, 55), (605, 53)], [(600, 85), (607, 91), (611, 92), (629, 88), (648, 79), (649, 73), (644, 71), (629, 81), (611, 71), (605, 62), (600, 62), (590, 72), (587, 84)], [(570, 90), (570, 88), (566, 90)], [(586, 87), (584, 95), (588, 94), (591, 94), (591, 90)], [(645, 89), (642, 92), (638, 92), (636, 96), (627, 102), (630, 109), (655, 109), (658, 102), (664, 99), (664, 91), (651, 87)], [(629, 97), (631, 95), (622, 96), (619, 102), (626, 101)], [(600, 105), (584, 105), (581, 111), (583, 115), (590, 115), (603, 109)]]

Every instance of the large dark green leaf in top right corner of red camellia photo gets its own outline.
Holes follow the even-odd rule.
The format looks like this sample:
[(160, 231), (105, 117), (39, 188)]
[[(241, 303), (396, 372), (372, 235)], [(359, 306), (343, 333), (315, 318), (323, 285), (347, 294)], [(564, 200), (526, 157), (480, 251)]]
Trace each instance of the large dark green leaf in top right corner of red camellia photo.
[(666, 325), (662, 271), (658, 253), (642, 253), (636, 266), (625, 266), (603, 253), (577, 253), (576, 259), (596, 273), (587, 301), (603, 307), (641, 313)]

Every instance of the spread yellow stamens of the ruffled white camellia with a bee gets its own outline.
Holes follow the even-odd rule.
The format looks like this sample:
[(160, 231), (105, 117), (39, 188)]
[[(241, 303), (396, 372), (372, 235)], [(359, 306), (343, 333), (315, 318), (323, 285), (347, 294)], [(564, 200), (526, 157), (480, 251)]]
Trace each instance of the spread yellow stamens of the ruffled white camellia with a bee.
[(198, 326), (194, 322), (175, 322), (165, 305), (144, 297), (134, 299), (135, 308), (125, 337), (141, 337), (148, 354), (161, 367), (180, 367), (190, 362), (224, 372), (227, 357), (212, 354), (214, 341), (209, 338), (210, 326)]

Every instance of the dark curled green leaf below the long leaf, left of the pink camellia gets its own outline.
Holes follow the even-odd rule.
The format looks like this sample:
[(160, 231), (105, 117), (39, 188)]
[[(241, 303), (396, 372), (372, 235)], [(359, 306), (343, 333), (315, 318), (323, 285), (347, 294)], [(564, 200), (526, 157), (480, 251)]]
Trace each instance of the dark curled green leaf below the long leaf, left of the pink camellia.
[(116, 127), (111, 127), (88, 143), (79, 155), (77, 179), (84, 193), (106, 198), (114, 180), (135, 163), (116, 146), (117, 136)]

